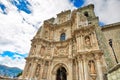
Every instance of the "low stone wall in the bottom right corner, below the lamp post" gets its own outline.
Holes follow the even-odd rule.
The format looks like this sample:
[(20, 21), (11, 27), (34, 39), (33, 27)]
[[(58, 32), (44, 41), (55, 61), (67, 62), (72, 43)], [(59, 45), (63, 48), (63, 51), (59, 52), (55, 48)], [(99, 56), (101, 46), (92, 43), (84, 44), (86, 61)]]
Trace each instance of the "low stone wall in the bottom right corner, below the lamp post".
[(108, 80), (120, 80), (120, 63), (114, 66), (107, 74)]

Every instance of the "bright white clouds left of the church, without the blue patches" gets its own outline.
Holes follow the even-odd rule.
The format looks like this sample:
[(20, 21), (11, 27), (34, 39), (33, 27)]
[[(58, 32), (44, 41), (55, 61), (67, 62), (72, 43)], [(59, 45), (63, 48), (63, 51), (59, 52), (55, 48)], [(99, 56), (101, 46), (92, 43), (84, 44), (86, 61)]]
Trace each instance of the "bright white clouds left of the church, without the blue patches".
[[(32, 14), (26, 14), (23, 11), (18, 12), (9, 1), (1, 1), (6, 6), (7, 15), (0, 13), (0, 53), (6, 50), (20, 54), (28, 53), (30, 40), (40, 27), (40, 22), (55, 17), (61, 11), (74, 8), (69, 0), (28, 0)], [(12, 60), (10, 57), (0, 56), (0, 64), (23, 68), (25, 59)]]

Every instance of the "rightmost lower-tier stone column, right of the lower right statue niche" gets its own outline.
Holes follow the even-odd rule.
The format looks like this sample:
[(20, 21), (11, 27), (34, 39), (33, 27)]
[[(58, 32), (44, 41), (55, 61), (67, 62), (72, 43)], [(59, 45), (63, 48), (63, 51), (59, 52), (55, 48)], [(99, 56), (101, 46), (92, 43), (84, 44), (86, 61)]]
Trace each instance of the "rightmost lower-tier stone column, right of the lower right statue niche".
[(95, 54), (95, 59), (96, 59), (96, 66), (97, 66), (97, 72), (98, 72), (97, 74), (98, 74), (99, 80), (104, 80), (103, 73), (102, 73), (102, 66), (100, 62), (101, 54), (100, 53)]

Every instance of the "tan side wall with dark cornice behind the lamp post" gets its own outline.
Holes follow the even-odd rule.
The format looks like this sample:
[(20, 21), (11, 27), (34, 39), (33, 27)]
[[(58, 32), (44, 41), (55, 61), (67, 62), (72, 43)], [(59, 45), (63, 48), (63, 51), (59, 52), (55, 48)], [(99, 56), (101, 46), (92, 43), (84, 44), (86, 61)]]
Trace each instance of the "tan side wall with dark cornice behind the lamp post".
[(120, 55), (119, 55), (120, 54), (120, 35), (119, 35), (120, 34), (120, 22), (109, 24), (109, 25), (102, 27), (102, 32), (106, 38), (106, 45), (107, 45), (112, 61), (114, 61), (114, 64), (116, 63), (113, 51), (109, 45), (109, 39), (112, 39), (114, 52), (117, 56), (118, 62), (120, 62)]

